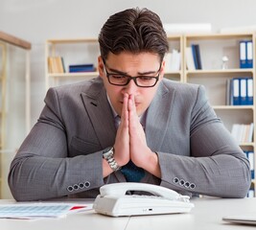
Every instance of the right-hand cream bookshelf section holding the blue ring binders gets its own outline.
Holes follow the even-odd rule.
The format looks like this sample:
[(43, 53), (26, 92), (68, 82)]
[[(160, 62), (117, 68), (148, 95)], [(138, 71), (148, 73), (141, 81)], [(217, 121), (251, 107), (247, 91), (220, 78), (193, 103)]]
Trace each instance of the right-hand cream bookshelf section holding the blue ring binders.
[[(252, 40), (255, 44), (255, 34), (186, 34), (185, 47), (199, 45), (202, 69), (187, 68), (187, 54), (183, 56), (184, 82), (203, 84), (206, 93), (217, 115), (231, 132), (233, 124), (255, 124), (255, 97), (252, 105), (229, 105), (226, 103), (226, 81), (233, 78), (252, 78), (255, 89), (255, 48), (253, 48), (254, 68), (240, 68), (240, 41)], [(222, 57), (228, 57), (227, 66), (222, 68)], [(255, 128), (252, 142), (240, 142), (244, 151), (255, 151)], [(253, 154), (255, 155), (255, 154)], [(253, 163), (255, 165), (255, 157)], [(251, 193), (255, 196), (255, 179), (252, 180)]]

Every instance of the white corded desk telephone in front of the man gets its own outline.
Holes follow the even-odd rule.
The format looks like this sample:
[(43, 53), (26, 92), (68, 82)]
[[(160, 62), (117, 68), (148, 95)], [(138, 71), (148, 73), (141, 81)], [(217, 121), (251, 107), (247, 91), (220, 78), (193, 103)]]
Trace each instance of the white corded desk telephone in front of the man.
[[(126, 195), (128, 191), (144, 191), (153, 196)], [(94, 210), (113, 217), (189, 213), (194, 207), (189, 196), (145, 183), (107, 184), (100, 188), (100, 193), (94, 201)]]

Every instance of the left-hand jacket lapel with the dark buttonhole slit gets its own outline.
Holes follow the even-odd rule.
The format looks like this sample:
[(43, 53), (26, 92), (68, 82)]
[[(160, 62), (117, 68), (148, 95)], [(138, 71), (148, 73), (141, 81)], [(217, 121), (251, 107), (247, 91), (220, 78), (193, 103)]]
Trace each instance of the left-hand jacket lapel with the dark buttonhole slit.
[(92, 84), (86, 93), (81, 93), (81, 99), (102, 148), (112, 146), (115, 141), (116, 128), (103, 82), (97, 81)]

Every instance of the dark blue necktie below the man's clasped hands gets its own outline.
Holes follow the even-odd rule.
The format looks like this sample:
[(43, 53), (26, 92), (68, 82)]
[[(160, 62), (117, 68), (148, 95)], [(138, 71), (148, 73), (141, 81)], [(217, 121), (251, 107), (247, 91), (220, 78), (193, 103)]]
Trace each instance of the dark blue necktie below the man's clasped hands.
[[(120, 117), (115, 117), (116, 128), (119, 127)], [(130, 160), (127, 165), (123, 166), (121, 172), (125, 175), (128, 182), (139, 182), (144, 176), (145, 171), (142, 168), (137, 167)]]

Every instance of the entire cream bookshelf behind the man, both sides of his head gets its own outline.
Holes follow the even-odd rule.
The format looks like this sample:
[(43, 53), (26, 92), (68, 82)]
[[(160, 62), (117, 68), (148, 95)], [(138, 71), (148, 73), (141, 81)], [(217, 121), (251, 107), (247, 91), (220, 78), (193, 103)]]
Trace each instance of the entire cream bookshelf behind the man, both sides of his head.
[[(253, 68), (240, 68), (241, 40), (252, 40)], [(168, 35), (170, 53), (174, 50), (180, 54), (180, 64), (177, 69), (166, 68), (165, 78), (173, 81), (202, 84), (217, 115), (229, 131), (233, 124), (255, 124), (255, 97), (252, 105), (228, 105), (226, 104), (226, 81), (233, 78), (249, 77), (253, 79), (255, 88), (255, 34), (174, 34)], [(187, 68), (187, 47), (198, 44), (202, 69)], [(97, 58), (100, 55), (97, 38), (79, 39), (49, 39), (45, 44), (45, 70), (46, 89), (63, 83), (81, 81), (98, 76), (98, 72), (84, 73), (49, 73), (48, 58), (60, 56), (64, 59), (65, 69), (74, 62), (94, 63), (97, 66)], [(228, 57), (225, 68), (222, 68), (222, 57)], [(80, 58), (78, 58), (80, 57)], [(168, 61), (167, 61), (168, 62)], [(255, 129), (253, 141), (240, 143), (244, 151), (255, 151)], [(256, 159), (254, 157), (254, 165)], [(254, 185), (256, 180), (252, 181)], [(256, 185), (255, 185), (256, 186)], [(255, 196), (255, 195), (254, 195)]]

